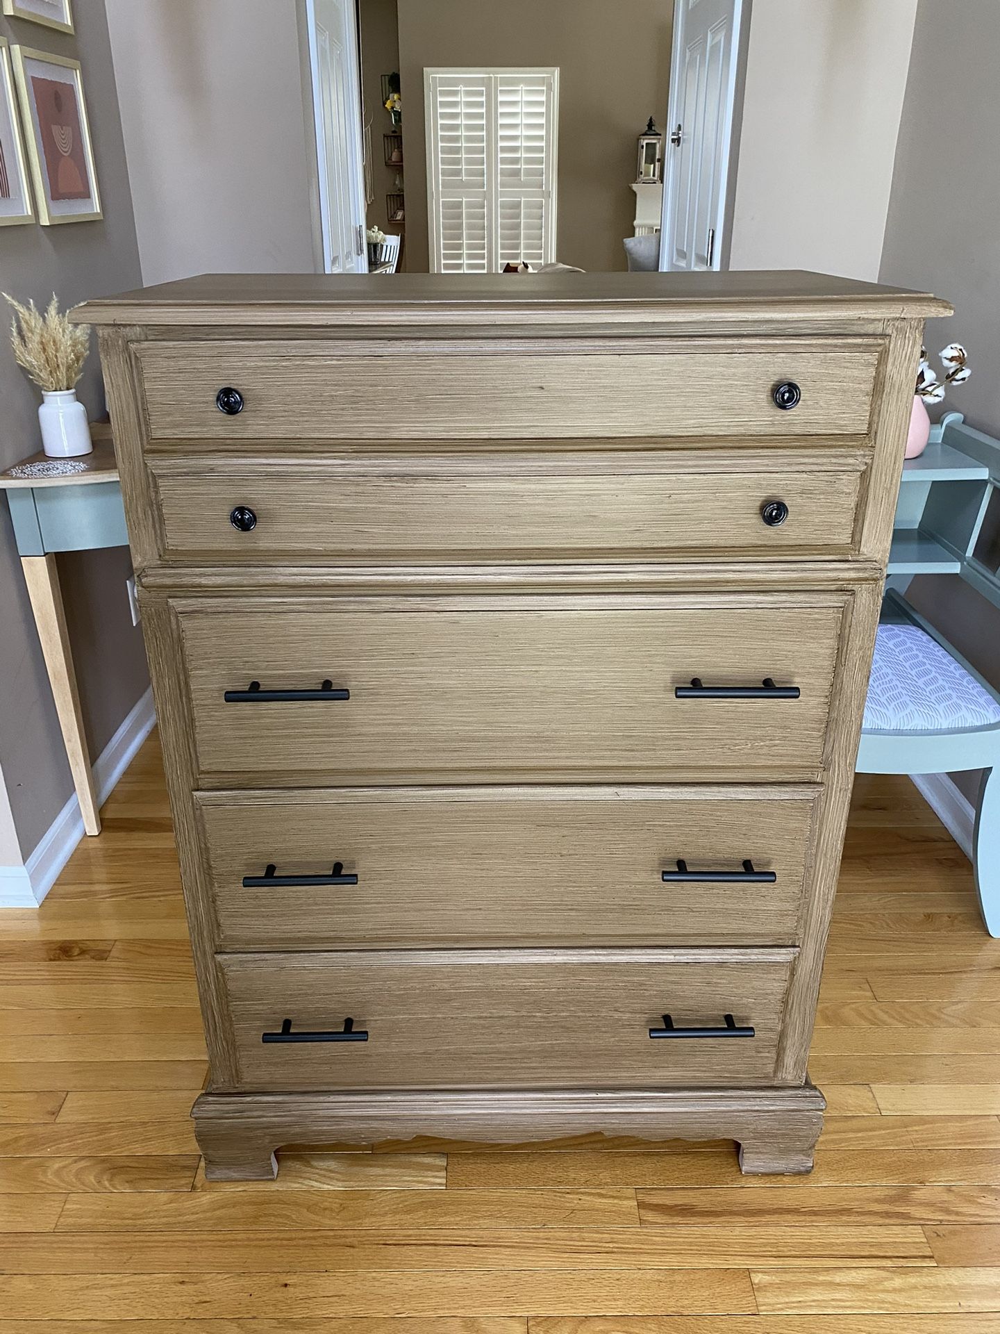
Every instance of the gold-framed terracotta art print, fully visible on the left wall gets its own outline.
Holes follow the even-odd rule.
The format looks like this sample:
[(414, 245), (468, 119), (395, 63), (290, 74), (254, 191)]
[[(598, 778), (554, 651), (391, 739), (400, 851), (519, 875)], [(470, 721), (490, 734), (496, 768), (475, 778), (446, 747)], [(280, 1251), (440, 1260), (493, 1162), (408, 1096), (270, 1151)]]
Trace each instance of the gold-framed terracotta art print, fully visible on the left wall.
[(11, 47), (43, 227), (101, 216), (80, 61)]

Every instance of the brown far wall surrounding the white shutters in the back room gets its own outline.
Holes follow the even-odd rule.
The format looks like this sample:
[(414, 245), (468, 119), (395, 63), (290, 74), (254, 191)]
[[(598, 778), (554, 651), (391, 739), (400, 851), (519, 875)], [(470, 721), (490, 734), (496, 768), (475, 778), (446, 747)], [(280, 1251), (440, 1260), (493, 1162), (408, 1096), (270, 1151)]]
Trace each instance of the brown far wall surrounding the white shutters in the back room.
[(636, 139), (667, 116), (672, 19), (672, 0), (399, 0), (408, 267), (428, 267), (424, 68), (559, 65), (557, 259), (625, 268)]

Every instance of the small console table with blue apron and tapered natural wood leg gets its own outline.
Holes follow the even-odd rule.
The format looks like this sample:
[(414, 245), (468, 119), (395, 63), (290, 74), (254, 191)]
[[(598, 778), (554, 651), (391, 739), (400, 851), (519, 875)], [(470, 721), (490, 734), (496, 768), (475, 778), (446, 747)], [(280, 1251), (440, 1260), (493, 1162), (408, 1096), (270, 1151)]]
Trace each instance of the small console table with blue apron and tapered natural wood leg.
[[(95, 424), (91, 432), (92, 454), (79, 459), (49, 459), (44, 454), (33, 454), (0, 472), (0, 490), (7, 491), (11, 507), (17, 554), (84, 828), (88, 834), (100, 834), (91, 756), (56, 570), (57, 551), (128, 546), (111, 427)], [(51, 464), (69, 466), (69, 471), (53, 475), (53, 470), (47, 467)]]

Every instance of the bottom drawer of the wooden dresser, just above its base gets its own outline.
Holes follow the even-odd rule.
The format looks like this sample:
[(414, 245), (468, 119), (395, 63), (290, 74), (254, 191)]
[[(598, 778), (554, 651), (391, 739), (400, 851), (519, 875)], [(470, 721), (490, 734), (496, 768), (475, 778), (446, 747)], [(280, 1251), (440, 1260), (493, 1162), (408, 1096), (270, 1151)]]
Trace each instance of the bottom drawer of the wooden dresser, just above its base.
[[(244, 1090), (656, 1089), (771, 1083), (795, 951), (217, 959)], [(721, 1033), (651, 1038), (664, 1015)]]

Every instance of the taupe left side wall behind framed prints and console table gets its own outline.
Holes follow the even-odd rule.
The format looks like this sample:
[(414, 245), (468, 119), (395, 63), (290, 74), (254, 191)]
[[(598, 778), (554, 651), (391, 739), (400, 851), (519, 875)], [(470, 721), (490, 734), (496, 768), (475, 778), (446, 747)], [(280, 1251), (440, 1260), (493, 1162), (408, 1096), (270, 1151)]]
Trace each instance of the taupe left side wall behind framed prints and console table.
[[(75, 5), (75, 36), (0, 17), (0, 35), (12, 44), (80, 60), (104, 207), (99, 223), (0, 229), (0, 287), (39, 303), (48, 300), (53, 289), (61, 301), (75, 304), (139, 283), (103, 0), (84, 0)], [(88, 362), (80, 396), (92, 418), (104, 411), (96, 355)], [(4, 339), (0, 467), (40, 447), (39, 402), (39, 392), (15, 366)], [(125, 579), (131, 566), (124, 548), (60, 556), (59, 564), (87, 735), (96, 756), (148, 684), (141, 635), (128, 612)], [(17, 842), (27, 858), (71, 796), (72, 782), (5, 503), (0, 503), (0, 764)]]

